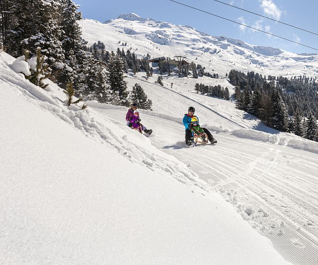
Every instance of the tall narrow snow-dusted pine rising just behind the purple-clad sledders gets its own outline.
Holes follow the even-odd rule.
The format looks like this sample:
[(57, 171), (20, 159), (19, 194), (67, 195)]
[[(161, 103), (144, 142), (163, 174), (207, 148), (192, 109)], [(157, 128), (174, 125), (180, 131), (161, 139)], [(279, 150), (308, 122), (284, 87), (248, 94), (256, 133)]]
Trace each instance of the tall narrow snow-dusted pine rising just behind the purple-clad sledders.
[(117, 105), (128, 106), (128, 94), (127, 83), (124, 81), (124, 63), (118, 54), (111, 52), (110, 59), (107, 65), (108, 70), (108, 84), (110, 89), (118, 97), (114, 99), (113, 103)]

